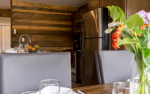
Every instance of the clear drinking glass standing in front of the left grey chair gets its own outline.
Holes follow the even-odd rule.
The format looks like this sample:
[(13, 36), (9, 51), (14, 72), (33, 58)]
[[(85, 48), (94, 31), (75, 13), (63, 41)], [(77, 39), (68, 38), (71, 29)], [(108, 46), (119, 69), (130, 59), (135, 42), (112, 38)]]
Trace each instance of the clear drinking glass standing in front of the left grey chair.
[(58, 94), (60, 91), (60, 84), (58, 80), (47, 79), (42, 80), (39, 86), (40, 94)]

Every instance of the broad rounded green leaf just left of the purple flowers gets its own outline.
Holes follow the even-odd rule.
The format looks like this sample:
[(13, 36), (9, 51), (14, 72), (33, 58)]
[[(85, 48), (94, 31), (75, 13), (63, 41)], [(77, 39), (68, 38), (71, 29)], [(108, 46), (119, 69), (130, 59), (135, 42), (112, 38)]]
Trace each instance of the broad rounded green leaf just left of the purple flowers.
[(129, 29), (134, 29), (143, 24), (144, 24), (144, 21), (138, 14), (133, 14), (132, 16), (129, 17), (127, 21), (127, 26)]

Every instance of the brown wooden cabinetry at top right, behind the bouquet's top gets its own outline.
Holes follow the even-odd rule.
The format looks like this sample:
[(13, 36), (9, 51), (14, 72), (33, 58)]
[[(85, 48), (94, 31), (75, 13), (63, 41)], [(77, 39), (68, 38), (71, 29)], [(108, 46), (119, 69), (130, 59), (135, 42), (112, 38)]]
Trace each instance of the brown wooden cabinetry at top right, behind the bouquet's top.
[(129, 18), (140, 10), (150, 11), (149, 2), (149, 0), (99, 0), (99, 7), (119, 6)]

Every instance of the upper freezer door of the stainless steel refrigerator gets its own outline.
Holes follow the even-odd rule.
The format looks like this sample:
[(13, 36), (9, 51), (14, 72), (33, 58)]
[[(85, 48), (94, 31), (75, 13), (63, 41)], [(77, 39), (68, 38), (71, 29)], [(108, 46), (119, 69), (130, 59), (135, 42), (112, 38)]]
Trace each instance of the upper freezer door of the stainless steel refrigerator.
[(82, 38), (102, 37), (102, 8), (83, 14), (86, 36)]

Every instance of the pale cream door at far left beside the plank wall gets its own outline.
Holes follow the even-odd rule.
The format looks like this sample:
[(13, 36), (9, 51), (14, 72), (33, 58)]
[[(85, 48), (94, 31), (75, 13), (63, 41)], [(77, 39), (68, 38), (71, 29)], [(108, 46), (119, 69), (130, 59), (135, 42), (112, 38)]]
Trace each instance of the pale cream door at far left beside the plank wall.
[(10, 26), (2, 26), (2, 50), (11, 48)]

